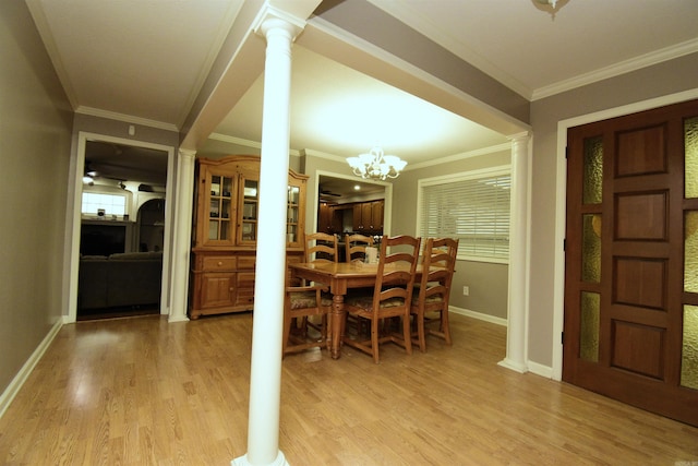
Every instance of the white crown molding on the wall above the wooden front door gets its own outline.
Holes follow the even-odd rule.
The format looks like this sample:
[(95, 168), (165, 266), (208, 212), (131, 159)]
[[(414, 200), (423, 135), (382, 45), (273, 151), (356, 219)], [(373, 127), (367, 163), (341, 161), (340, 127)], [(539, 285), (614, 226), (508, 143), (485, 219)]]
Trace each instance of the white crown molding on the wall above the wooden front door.
[(642, 68), (651, 67), (653, 64), (673, 60), (685, 55), (695, 53), (697, 51), (698, 39), (686, 40), (685, 43), (655, 50), (653, 52), (631, 58), (629, 60), (624, 60), (610, 67), (580, 74), (569, 80), (559, 81), (557, 83), (551, 84), (550, 86), (540, 87), (533, 91), (531, 101), (571, 91), (574, 88), (586, 86), (599, 81), (607, 80), (610, 77), (619, 76), (631, 71), (640, 70)]

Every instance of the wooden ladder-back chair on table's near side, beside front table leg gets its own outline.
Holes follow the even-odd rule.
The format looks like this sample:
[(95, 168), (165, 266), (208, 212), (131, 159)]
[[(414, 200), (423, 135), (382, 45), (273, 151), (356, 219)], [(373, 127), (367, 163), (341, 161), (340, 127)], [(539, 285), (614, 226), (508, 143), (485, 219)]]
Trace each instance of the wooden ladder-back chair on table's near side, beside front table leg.
[[(344, 343), (373, 356), (378, 362), (378, 345), (393, 342), (412, 354), (410, 330), (410, 300), (414, 285), (414, 271), (419, 259), (420, 238), (410, 236), (384, 236), (381, 241), (376, 280), (372, 291), (348, 295), (345, 310), (348, 315), (371, 321), (370, 339), (358, 335), (345, 335)], [(388, 253), (389, 248), (389, 253)], [(396, 333), (381, 334), (381, 321), (389, 318), (401, 318), (402, 335)]]

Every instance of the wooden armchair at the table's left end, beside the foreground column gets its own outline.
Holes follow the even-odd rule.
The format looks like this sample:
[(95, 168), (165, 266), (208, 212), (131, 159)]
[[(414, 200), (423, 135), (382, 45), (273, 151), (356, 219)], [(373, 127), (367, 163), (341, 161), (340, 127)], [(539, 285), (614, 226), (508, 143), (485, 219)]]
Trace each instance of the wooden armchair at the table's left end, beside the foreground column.
[[(284, 300), (284, 356), (290, 353), (299, 353), (310, 348), (329, 349), (327, 330), (329, 325), (329, 311), (332, 299), (323, 291), (327, 287), (322, 284), (308, 286), (287, 286)], [(320, 315), (320, 324), (311, 324), (308, 318)], [(299, 328), (294, 322), (301, 319), (303, 325)], [(311, 334), (309, 327), (315, 328), (318, 335)], [(296, 332), (293, 332), (296, 330)]]

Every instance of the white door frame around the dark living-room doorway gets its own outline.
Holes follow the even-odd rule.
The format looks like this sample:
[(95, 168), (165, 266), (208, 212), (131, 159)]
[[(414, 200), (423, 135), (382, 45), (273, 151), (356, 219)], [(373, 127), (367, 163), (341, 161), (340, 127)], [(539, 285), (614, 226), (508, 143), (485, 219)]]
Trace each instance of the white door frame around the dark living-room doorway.
[(77, 273), (80, 270), (80, 231), (82, 220), (82, 194), (83, 194), (83, 171), (85, 168), (85, 148), (87, 141), (108, 142), (135, 147), (153, 148), (167, 153), (167, 182), (165, 186), (165, 234), (163, 250), (163, 286), (160, 288), (160, 314), (169, 313), (169, 276), (171, 268), (171, 241), (172, 224), (174, 217), (173, 210), (173, 174), (174, 174), (174, 147), (156, 144), (146, 141), (137, 141), (125, 138), (110, 136), (107, 134), (93, 133), (88, 131), (77, 132), (77, 151), (73, 153), (75, 158), (71, 166), (75, 167), (73, 174), (73, 199), (69, 199), (69, 223), (72, 224), (72, 237), (69, 246), (69, 294), (68, 313), (63, 315), (63, 323), (74, 323), (77, 320)]

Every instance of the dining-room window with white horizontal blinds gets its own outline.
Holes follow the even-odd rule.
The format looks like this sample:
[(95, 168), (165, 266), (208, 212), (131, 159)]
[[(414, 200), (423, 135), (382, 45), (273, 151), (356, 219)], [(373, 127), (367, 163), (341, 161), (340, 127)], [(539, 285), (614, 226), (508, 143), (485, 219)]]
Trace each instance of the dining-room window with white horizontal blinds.
[(418, 230), (422, 238), (458, 238), (458, 259), (509, 260), (510, 167), (419, 181)]

